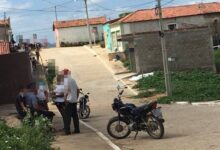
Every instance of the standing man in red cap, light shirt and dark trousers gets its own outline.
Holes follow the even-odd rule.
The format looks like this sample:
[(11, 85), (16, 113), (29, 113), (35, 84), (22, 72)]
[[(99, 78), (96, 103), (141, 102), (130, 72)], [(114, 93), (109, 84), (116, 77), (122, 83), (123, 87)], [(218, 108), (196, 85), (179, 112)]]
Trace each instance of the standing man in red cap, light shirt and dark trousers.
[(80, 133), (79, 118), (77, 114), (77, 101), (79, 97), (79, 88), (76, 81), (71, 77), (71, 72), (67, 69), (64, 70), (64, 86), (65, 86), (65, 134), (69, 135), (71, 118), (74, 123), (74, 133)]

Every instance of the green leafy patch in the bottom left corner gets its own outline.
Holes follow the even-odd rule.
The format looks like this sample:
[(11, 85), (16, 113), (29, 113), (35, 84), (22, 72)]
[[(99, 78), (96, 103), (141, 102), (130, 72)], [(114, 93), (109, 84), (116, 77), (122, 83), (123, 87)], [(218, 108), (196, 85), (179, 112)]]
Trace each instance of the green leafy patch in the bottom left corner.
[(8, 127), (0, 120), (0, 149), (52, 150), (50, 121), (43, 117), (25, 118), (22, 127)]

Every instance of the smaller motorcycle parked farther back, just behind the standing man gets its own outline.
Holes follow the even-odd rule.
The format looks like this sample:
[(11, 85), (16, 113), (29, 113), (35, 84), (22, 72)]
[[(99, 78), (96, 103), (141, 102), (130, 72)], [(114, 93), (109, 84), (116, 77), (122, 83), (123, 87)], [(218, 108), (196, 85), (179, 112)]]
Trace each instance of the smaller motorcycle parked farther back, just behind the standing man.
[(86, 119), (90, 115), (90, 107), (87, 105), (90, 93), (84, 94), (82, 89), (80, 89), (80, 94), (82, 94), (82, 97), (79, 98), (78, 115), (80, 119)]

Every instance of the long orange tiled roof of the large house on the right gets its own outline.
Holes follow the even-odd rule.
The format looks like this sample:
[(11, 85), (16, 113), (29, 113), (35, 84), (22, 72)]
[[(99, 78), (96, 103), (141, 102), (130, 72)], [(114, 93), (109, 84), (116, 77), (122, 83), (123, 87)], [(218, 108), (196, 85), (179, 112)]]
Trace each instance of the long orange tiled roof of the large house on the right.
[[(193, 5), (183, 5), (183, 6), (174, 6), (166, 7), (162, 9), (163, 18), (176, 18), (176, 17), (186, 17), (186, 16), (195, 16), (209, 13), (218, 13), (220, 12), (220, 3), (200, 3)], [(140, 22), (148, 20), (156, 20), (158, 16), (155, 15), (155, 9), (142, 9), (137, 10), (126, 17), (120, 19), (118, 23), (131, 23), (131, 22)]]

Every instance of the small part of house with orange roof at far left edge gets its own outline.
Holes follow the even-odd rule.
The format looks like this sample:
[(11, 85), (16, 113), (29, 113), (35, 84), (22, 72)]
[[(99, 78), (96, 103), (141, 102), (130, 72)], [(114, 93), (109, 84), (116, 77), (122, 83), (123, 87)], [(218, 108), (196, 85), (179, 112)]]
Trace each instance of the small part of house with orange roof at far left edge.
[(0, 20), (0, 41), (9, 41), (10, 31), (10, 18), (6, 20)]

